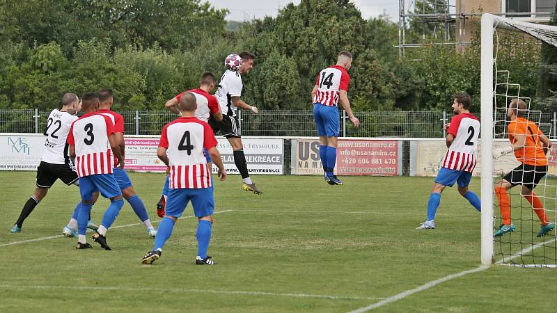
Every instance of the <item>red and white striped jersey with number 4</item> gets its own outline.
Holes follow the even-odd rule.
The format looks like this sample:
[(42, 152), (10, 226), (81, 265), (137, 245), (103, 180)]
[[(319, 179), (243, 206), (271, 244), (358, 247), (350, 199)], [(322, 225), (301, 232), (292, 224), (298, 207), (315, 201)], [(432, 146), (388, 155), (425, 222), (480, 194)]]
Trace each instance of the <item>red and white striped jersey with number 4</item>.
[(207, 166), (203, 147), (217, 146), (211, 127), (198, 118), (182, 117), (169, 122), (162, 129), (159, 147), (166, 148), (170, 166), (169, 187), (209, 188), (211, 171)]

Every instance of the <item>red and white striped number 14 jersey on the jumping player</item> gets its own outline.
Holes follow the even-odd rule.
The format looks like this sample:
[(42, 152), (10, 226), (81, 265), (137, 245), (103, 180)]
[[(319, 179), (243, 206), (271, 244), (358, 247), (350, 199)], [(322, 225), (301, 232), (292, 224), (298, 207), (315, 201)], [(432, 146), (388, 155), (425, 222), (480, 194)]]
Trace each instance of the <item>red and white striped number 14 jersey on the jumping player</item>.
[(344, 67), (333, 65), (319, 72), (317, 75), (317, 91), (313, 97), (313, 103), (320, 103), (326, 106), (338, 105), (340, 90), (348, 91), (350, 76)]

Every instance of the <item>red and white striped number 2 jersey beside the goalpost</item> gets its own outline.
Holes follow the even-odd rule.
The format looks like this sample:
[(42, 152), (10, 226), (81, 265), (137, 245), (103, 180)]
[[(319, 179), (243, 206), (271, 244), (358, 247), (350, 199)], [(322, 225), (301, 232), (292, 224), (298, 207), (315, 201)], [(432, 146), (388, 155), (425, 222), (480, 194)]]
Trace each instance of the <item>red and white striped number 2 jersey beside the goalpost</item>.
[(471, 113), (455, 115), (450, 120), (447, 133), (455, 136), (455, 139), (448, 147), (441, 166), (450, 170), (472, 172), (476, 167), (480, 120)]

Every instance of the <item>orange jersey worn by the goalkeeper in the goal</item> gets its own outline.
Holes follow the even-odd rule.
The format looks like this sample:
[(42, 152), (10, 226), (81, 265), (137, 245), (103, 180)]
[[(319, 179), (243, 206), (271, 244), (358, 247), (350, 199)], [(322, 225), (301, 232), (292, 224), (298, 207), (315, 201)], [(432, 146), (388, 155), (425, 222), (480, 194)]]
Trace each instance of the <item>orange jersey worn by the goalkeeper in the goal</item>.
[(508, 134), (511, 143), (516, 143), (516, 135), (526, 135), (524, 147), (515, 151), (515, 157), (519, 162), (531, 166), (547, 166), (547, 157), (540, 140), (540, 134), (543, 133), (535, 122), (517, 117), (516, 120), (509, 123)]

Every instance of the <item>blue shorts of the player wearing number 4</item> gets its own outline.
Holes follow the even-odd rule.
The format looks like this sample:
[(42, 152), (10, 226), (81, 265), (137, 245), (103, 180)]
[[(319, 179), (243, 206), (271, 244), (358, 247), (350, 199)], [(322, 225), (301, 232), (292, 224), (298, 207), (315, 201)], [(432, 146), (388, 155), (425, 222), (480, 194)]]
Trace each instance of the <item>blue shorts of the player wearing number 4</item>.
[(168, 198), (166, 198), (166, 212), (167, 216), (174, 216), (176, 218), (182, 216), (186, 206), (191, 200), (194, 207), (194, 214), (196, 217), (209, 216), (214, 211), (214, 198), (213, 188), (175, 188), (168, 191)]

